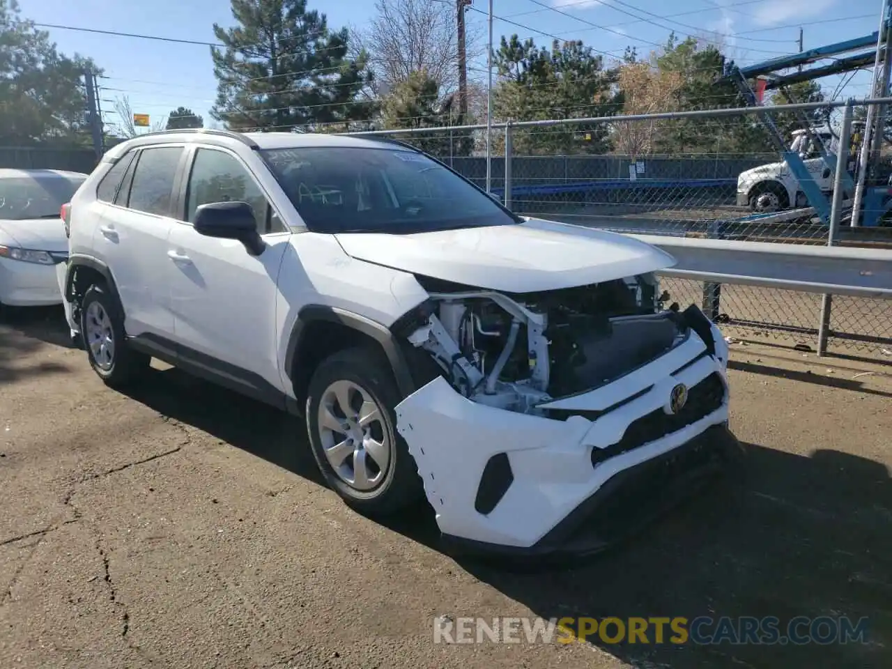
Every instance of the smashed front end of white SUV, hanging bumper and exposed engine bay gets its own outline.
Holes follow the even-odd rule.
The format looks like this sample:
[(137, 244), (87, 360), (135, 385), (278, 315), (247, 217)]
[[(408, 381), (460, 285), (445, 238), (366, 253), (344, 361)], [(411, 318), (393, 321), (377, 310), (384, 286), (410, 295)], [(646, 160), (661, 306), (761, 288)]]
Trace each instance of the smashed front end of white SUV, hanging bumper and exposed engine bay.
[(523, 294), (417, 279), (429, 299), (394, 334), (437, 367), (397, 430), (444, 537), (598, 549), (579, 532), (599, 509), (646, 516), (647, 494), (690, 489), (733, 444), (723, 337), (696, 306), (665, 308), (654, 275)]

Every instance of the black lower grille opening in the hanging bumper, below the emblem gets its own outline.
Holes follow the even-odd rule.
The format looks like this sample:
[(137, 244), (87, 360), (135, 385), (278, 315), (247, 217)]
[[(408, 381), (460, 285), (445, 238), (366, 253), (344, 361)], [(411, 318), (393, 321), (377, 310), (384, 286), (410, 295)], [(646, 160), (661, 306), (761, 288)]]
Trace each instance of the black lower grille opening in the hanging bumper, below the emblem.
[(713, 372), (688, 391), (688, 401), (677, 414), (667, 415), (663, 409), (651, 411), (629, 425), (623, 438), (606, 449), (591, 450), (591, 464), (597, 466), (609, 458), (634, 450), (649, 442), (678, 432), (721, 408), (724, 400), (722, 376)]

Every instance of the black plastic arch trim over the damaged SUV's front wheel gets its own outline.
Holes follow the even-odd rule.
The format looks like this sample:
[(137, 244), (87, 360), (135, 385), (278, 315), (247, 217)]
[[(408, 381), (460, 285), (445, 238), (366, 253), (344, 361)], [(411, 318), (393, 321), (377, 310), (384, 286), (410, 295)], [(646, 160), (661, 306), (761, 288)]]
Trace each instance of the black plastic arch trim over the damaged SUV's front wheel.
[(408, 344), (398, 340), (389, 327), (349, 310), (308, 304), (298, 313), (285, 348), (285, 374), (301, 409), (319, 362), (336, 351), (362, 344), (376, 346), (384, 354), (402, 396), (417, 390)]

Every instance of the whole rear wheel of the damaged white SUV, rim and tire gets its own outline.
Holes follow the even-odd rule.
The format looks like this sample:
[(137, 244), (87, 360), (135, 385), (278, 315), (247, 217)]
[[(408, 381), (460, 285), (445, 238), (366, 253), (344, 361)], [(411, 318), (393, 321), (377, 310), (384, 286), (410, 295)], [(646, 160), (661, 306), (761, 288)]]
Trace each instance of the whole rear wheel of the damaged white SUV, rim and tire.
[(133, 351), (124, 333), (118, 304), (101, 285), (91, 285), (80, 305), (80, 334), (93, 371), (110, 386), (134, 380), (152, 359)]

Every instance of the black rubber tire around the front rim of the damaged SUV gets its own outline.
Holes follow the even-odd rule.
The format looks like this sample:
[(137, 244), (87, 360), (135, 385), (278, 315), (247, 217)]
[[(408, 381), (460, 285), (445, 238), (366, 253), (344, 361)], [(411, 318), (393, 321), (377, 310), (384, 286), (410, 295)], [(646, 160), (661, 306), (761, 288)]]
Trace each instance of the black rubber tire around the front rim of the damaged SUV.
[[(359, 386), (379, 409), (376, 429), (390, 440), (390, 458), (384, 476), (376, 486), (361, 491), (347, 483), (326, 457), (319, 430), (319, 406), (327, 389), (335, 382), (346, 381)], [(352, 508), (367, 516), (389, 516), (409, 507), (424, 494), (417, 473), (415, 459), (409, 447), (396, 431), (394, 407), (401, 401), (393, 380), (392, 370), (384, 355), (371, 348), (352, 348), (338, 351), (323, 360), (312, 379), (307, 393), (306, 419), (310, 449), (326, 483)], [(368, 455), (366, 456), (368, 458)], [(352, 459), (349, 456), (348, 459)], [(374, 459), (372, 460), (375, 463)], [(378, 470), (382, 471), (382, 470)]]

